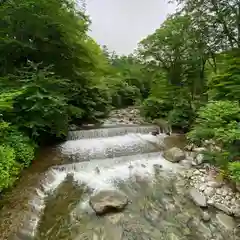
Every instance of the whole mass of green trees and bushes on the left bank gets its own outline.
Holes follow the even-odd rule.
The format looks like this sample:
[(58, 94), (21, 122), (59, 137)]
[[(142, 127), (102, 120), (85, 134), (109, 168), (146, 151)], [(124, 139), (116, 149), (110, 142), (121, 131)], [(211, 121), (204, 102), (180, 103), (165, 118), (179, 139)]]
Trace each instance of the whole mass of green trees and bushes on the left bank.
[(72, 0), (1, 4), (0, 190), (30, 165), (37, 144), (108, 113), (111, 66), (89, 23)]

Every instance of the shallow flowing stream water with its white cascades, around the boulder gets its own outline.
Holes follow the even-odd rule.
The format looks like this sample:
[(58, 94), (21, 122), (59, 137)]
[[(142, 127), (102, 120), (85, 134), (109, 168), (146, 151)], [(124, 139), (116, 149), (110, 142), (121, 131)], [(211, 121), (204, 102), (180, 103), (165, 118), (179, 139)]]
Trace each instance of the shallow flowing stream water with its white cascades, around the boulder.
[[(165, 134), (152, 136), (149, 132), (154, 129), (129, 126), (70, 132), (68, 141), (46, 154), (53, 166), (49, 163), (47, 170), (42, 168), (44, 173), (21, 179), (20, 192), (31, 190), (21, 200), (24, 204), (19, 192), (16, 205), (22, 211), (18, 209), (16, 216), (21, 220), (16, 231), (2, 239), (237, 240), (239, 232), (222, 227), (214, 210), (211, 221), (201, 220), (203, 210), (188, 198), (179, 175), (184, 167), (162, 157), (162, 149), (176, 141)], [(181, 138), (179, 142), (183, 145)], [(41, 167), (36, 168), (39, 173)], [(124, 192), (130, 203), (121, 213), (99, 217), (88, 201), (106, 189)]]

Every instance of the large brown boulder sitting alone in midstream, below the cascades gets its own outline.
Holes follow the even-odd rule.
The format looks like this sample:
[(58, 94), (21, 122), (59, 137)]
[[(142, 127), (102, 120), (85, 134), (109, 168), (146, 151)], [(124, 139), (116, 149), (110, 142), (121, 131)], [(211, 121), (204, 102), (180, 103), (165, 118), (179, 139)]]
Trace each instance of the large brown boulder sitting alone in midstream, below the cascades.
[(91, 196), (89, 204), (98, 215), (103, 215), (123, 210), (128, 204), (128, 198), (119, 191), (104, 190)]

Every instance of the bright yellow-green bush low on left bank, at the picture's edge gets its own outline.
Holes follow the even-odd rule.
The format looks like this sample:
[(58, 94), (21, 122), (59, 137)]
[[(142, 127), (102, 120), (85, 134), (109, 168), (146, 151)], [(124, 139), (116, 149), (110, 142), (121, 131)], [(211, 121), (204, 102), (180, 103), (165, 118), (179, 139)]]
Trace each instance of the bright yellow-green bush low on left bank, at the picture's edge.
[(12, 186), (21, 170), (21, 165), (15, 160), (14, 149), (0, 145), (0, 191)]

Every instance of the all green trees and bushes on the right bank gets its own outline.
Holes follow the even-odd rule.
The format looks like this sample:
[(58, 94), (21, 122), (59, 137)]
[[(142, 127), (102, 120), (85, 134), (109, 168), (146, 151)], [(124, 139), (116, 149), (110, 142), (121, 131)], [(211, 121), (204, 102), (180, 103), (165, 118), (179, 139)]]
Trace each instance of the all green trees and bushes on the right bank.
[(143, 115), (165, 118), (240, 183), (240, 3), (177, 0), (177, 13), (139, 44), (152, 78)]

